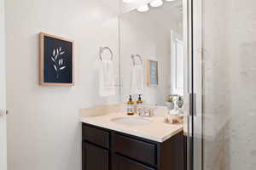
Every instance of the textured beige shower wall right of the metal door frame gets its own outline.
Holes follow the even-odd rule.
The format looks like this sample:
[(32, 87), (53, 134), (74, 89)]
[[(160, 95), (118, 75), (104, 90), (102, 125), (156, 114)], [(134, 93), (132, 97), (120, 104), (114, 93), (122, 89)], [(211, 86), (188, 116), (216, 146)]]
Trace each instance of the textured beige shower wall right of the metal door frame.
[(256, 167), (255, 6), (203, 1), (206, 170)]

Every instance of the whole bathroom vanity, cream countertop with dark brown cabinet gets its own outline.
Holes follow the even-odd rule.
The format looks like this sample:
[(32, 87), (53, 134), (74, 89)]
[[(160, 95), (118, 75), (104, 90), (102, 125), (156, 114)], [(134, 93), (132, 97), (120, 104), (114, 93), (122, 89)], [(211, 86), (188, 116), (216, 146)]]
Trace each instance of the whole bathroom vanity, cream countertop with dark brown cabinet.
[[(119, 116), (82, 118), (83, 170), (183, 169), (182, 125), (168, 125), (160, 121), (162, 117), (154, 117), (148, 124), (130, 127), (113, 121)], [(129, 118), (121, 115), (125, 117)]]

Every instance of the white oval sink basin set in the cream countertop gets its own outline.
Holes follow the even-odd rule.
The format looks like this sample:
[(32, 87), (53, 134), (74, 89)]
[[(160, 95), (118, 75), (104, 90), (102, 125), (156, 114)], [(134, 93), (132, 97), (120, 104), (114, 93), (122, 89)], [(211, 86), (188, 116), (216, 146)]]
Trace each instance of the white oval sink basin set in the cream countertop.
[(113, 118), (111, 121), (127, 126), (147, 125), (152, 122), (151, 120), (143, 117), (117, 117)]

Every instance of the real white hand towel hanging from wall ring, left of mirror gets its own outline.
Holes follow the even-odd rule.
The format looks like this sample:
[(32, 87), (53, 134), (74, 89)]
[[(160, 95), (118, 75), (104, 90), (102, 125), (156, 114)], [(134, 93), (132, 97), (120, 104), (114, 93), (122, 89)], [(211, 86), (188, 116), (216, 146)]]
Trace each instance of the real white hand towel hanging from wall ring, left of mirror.
[(99, 61), (99, 94), (102, 97), (115, 95), (113, 61)]

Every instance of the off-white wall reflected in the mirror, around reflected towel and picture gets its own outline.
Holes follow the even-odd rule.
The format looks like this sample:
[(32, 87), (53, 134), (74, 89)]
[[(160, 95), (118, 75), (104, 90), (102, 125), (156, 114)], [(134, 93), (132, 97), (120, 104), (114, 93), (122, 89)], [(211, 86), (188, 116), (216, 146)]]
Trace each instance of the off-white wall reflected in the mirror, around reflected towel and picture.
[[(165, 105), (166, 96), (171, 94), (171, 30), (182, 34), (182, 14), (165, 3), (161, 8), (151, 8), (147, 13), (130, 11), (120, 16), (120, 61), (122, 101), (131, 94), (131, 54), (143, 58), (143, 100), (149, 105)], [(174, 10), (172, 10), (174, 9)], [(178, 15), (178, 17), (177, 17)], [(159, 64), (159, 86), (147, 86), (147, 59)], [(137, 98), (137, 96), (135, 96)], [(137, 100), (137, 99), (135, 99)]]

